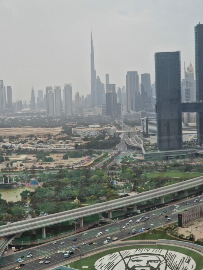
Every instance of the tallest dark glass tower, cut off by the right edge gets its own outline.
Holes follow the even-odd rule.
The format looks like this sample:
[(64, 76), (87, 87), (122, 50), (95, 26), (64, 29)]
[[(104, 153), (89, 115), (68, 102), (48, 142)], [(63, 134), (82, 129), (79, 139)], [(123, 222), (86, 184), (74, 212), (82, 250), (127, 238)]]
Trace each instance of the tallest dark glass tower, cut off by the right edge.
[[(203, 24), (195, 26), (196, 100), (203, 100)], [(203, 143), (203, 112), (197, 112), (197, 142)]]

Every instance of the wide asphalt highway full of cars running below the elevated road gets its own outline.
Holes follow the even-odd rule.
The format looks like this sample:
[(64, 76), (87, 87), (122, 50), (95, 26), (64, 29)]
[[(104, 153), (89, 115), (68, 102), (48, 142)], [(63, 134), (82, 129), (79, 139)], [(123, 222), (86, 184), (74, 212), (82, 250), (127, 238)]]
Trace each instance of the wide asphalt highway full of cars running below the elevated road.
[[(199, 199), (200, 200), (200, 199)], [(171, 217), (171, 221), (175, 222), (177, 221), (178, 213), (184, 211), (184, 209), (188, 209), (189, 207), (194, 207), (197, 205), (197, 203), (194, 203), (194, 198), (187, 200), (189, 205), (185, 205), (183, 202), (176, 203), (179, 204), (179, 207), (176, 208), (174, 205), (168, 205), (164, 206), (162, 208), (156, 209), (154, 211), (148, 212), (148, 213), (142, 213), (140, 215), (137, 215), (136, 217), (129, 217), (125, 220), (120, 221), (121, 226), (126, 226), (125, 229), (122, 229), (120, 231), (120, 226), (118, 224), (109, 224), (106, 226), (103, 226), (101, 228), (96, 228), (92, 230), (86, 231), (87, 234), (84, 235), (84, 232), (77, 234), (77, 242), (74, 242), (73, 239), (75, 236), (66, 237), (63, 239), (60, 239), (57, 241), (56, 244), (52, 244), (52, 242), (39, 245), (37, 247), (33, 247), (30, 249), (26, 249), (24, 251), (19, 252), (13, 252), (13, 254), (8, 256), (3, 256), (0, 260), (0, 267), (1, 269), (14, 269), (16, 266), (19, 266), (19, 263), (17, 263), (17, 259), (21, 256), (24, 256), (22, 258), (24, 260), (25, 266), (23, 266), (24, 270), (35, 270), (35, 269), (45, 269), (48, 265), (45, 265), (45, 261), (50, 261), (49, 266), (53, 267), (58, 264), (64, 264), (68, 262), (68, 258), (64, 259), (62, 253), (57, 253), (57, 251), (63, 251), (63, 250), (71, 250), (72, 246), (79, 246), (82, 254), (88, 254), (92, 252), (95, 248), (98, 248), (100, 246), (103, 246), (103, 242), (106, 240), (107, 237), (117, 236), (119, 239), (123, 239), (125, 237), (132, 234), (132, 229), (136, 230), (136, 233), (139, 232), (142, 228), (144, 231), (146, 231), (147, 228), (156, 228), (160, 227), (164, 224), (166, 224), (166, 218), (165, 215), (168, 217)], [(200, 202), (199, 205), (203, 204), (203, 202)], [(166, 210), (167, 212), (164, 213), (163, 211)], [(159, 215), (162, 214), (162, 215)], [(151, 216), (151, 219), (145, 220), (143, 217), (139, 223), (136, 223), (135, 221), (142, 217), (149, 217)], [(132, 222), (129, 222), (132, 220)], [(126, 225), (126, 223), (129, 223), (129, 225)], [(153, 224), (151, 227), (150, 224)], [(106, 231), (109, 230), (109, 231)], [(103, 235), (100, 237), (96, 237), (98, 232), (103, 232)], [(159, 237), (159, 236), (158, 236)], [(62, 241), (64, 241), (64, 244), (60, 244)], [(89, 245), (90, 242), (96, 242), (96, 245)], [(110, 240), (109, 243), (111, 243), (112, 240)], [(86, 245), (82, 245), (82, 243), (86, 243)], [(108, 245), (108, 244), (107, 244)], [(32, 257), (27, 258), (27, 254), (29, 252), (32, 252)], [(50, 259), (45, 259), (45, 256), (50, 256)], [(74, 251), (74, 254), (71, 255), (71, 258), (79, 257), (80, 254), (78, 251)], [(41, 259), (41, 261), (44, 261), (43, 264), (39, 264), (39, 257), (44, 257), (44, 259)]]

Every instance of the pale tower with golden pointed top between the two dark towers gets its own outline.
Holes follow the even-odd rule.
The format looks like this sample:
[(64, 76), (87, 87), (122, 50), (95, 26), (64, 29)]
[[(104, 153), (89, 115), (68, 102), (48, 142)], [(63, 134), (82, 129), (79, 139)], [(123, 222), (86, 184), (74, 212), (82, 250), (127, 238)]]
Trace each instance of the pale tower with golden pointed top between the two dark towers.
[(185, 79), (183, 79), (181, 83), (182, 102), (196, 101), (194, 69), (191, 63), (186, 71), (185, 62), (184, 62), (184, 73), (185, 73)]

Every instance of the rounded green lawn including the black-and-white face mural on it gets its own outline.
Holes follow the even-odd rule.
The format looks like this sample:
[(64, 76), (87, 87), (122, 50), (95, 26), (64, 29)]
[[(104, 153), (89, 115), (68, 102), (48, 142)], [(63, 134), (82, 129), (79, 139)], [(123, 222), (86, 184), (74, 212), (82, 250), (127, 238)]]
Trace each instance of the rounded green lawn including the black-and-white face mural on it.
[[(106, 246), (108, 248), (108, 246)], [(109, 247), (110, 248), (110, 247)], [(96, 251), (98, 252), (98, 250)], [(118, 253), (119, 252), (119, 253)], [(112, 255), (111, 255), (112, 254)], [(105, 257), (106, 256), (106, 257)], [(133, 260), (132, 260), (133, 258)], [(142, 258), (142, 260), (140, 259)], [(120, 261), (119, 261), (120, 260)], [(130, 262), (132, 260), (132, 262)], [(168, 245), (128, 245), (118, 248), (111, 248), (106, 251), (98, 252), (94, 255), (79, 259), (78, 261), (68, 263), (71, 267), (83, 270), (126, 270), (126, 269), (142, 269), (144, 260), (148, 266), (150, 260), (153, 260), (154, 266), (156, 263), (160, 267), (150, 269), (178, 269), (178, 270), (202, 270), (203, 256), (195, 251)], [(142, 262), (138, 262), (142, 261)], [(126, 264), (133, 263), (134, 268), (127, 268)], [(195, 266), (196, 264), (196, 266)], [(138, 267), (136, 267), (136, 266)], [(175, 265), (178, 268), (172, 268)], [(163, 268), (163, 266), (167, 268)], [(140, 268), (139, 268), (140, 267)], [(148, 269), (148, 268), (143, 268)]]

